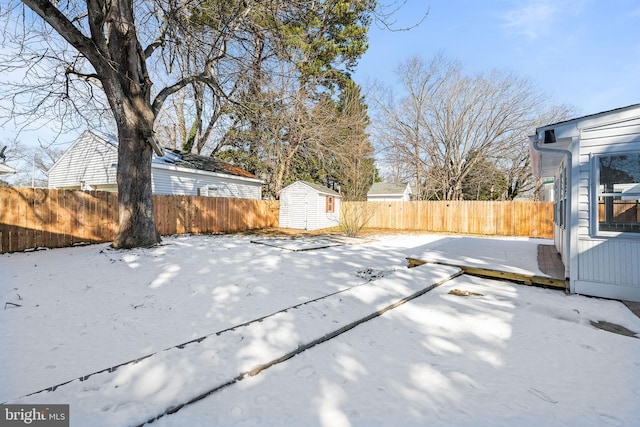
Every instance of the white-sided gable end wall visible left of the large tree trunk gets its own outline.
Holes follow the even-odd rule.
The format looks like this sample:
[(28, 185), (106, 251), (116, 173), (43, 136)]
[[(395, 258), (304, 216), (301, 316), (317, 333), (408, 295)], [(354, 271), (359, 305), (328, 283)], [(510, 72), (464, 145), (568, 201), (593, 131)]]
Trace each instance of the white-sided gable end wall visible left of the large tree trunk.
[(115, 184), (118, 149), (85, 132), (49, 170), (49, 188), (91, 189)]

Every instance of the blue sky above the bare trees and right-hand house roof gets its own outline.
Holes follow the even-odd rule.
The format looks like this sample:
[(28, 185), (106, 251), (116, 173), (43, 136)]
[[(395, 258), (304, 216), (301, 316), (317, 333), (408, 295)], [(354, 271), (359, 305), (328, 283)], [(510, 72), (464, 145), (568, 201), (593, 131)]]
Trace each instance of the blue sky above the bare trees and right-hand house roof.
[(444, 52), (468, 73), (529, 78), (580, 114), (640, 103), (640, 0), (408, 0), (396, 27), (427, 10), (409, 31), (371, 28), (356, 82), (393, 85), (399, 62)]

